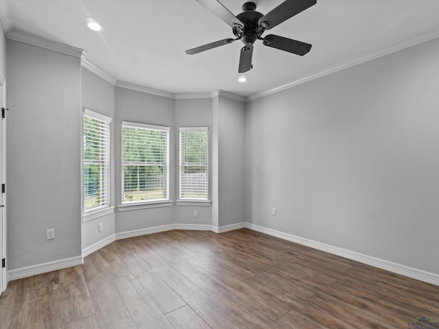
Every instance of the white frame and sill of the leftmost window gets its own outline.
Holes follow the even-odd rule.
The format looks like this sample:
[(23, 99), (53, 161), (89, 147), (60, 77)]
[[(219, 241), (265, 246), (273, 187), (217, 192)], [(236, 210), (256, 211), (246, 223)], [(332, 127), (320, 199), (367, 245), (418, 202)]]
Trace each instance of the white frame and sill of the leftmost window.
[[(112, 118), (104, 114), (95, 112), (88, 108), (83, 108), (82, 111), (82, 220), (88, 221), (114, 211), (112, 206), (112, 177), (111, 177), (111, 130)], [(84, 142), (86, 140), (84, 134), (85, 119), (89, 117), (93, 120), (103, 123), (104, 132), (97, 132), (102, 136), (103, 143), (99, 143), (99, 160), (88, 160), (84, 152), (86, 151)], [(99, 199), (102, 198), (102, 204), (93, 208), (85, 208), (85, 166), (86, 164), (95, 164), (99, 166)], [(100, 187), (103, 186), (103, 187)], [(100, 201), (99, 201), (100, 202)]]

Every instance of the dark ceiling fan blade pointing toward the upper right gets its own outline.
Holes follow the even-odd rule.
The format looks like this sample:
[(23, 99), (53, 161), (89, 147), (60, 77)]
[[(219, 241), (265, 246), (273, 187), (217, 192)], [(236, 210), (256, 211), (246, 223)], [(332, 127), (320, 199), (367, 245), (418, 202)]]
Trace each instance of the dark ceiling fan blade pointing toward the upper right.
[(317, 0), (286, 0), (274, 8), (274, 10), (262, 16), (258, 21), (258, 25), (262, 25), (265, 29), (272, 29), (299, 12), (311, 7), (311, 5), (315, 5), (316, 2)]

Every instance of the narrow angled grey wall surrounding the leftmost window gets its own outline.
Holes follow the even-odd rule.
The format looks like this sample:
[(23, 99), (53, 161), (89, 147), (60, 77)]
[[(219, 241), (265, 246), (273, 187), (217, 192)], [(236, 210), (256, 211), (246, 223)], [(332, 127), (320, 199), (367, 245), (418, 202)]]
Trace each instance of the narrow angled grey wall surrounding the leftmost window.
[[(115, 86), (88, 69), (82, 68), (82, 108), (88, 108), (112, 118), (111, 123), (111, 182), (115, 182)], [(111, 185), (111, 204), (115, 204), (115, 184)], [(98, 224), (103, 230), (99, 232)], [(82, 250), (115, 234), (115, 213), (82, 222)]]

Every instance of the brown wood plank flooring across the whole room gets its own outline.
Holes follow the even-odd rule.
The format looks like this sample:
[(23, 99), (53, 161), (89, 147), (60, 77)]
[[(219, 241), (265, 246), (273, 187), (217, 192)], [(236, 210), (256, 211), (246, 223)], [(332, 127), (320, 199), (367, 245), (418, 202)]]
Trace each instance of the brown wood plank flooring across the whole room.
[(248, 229), (115, 241), (15, 280), (0, 328), (410, 328), (439, 287)]

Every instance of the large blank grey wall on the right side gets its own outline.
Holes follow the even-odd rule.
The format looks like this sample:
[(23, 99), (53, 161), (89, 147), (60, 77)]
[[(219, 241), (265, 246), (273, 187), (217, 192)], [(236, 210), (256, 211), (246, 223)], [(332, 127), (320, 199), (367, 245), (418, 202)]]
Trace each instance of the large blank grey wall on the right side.
[(246, 221), (439, 274), (438, 53), (431, 40), (248, 102)]

